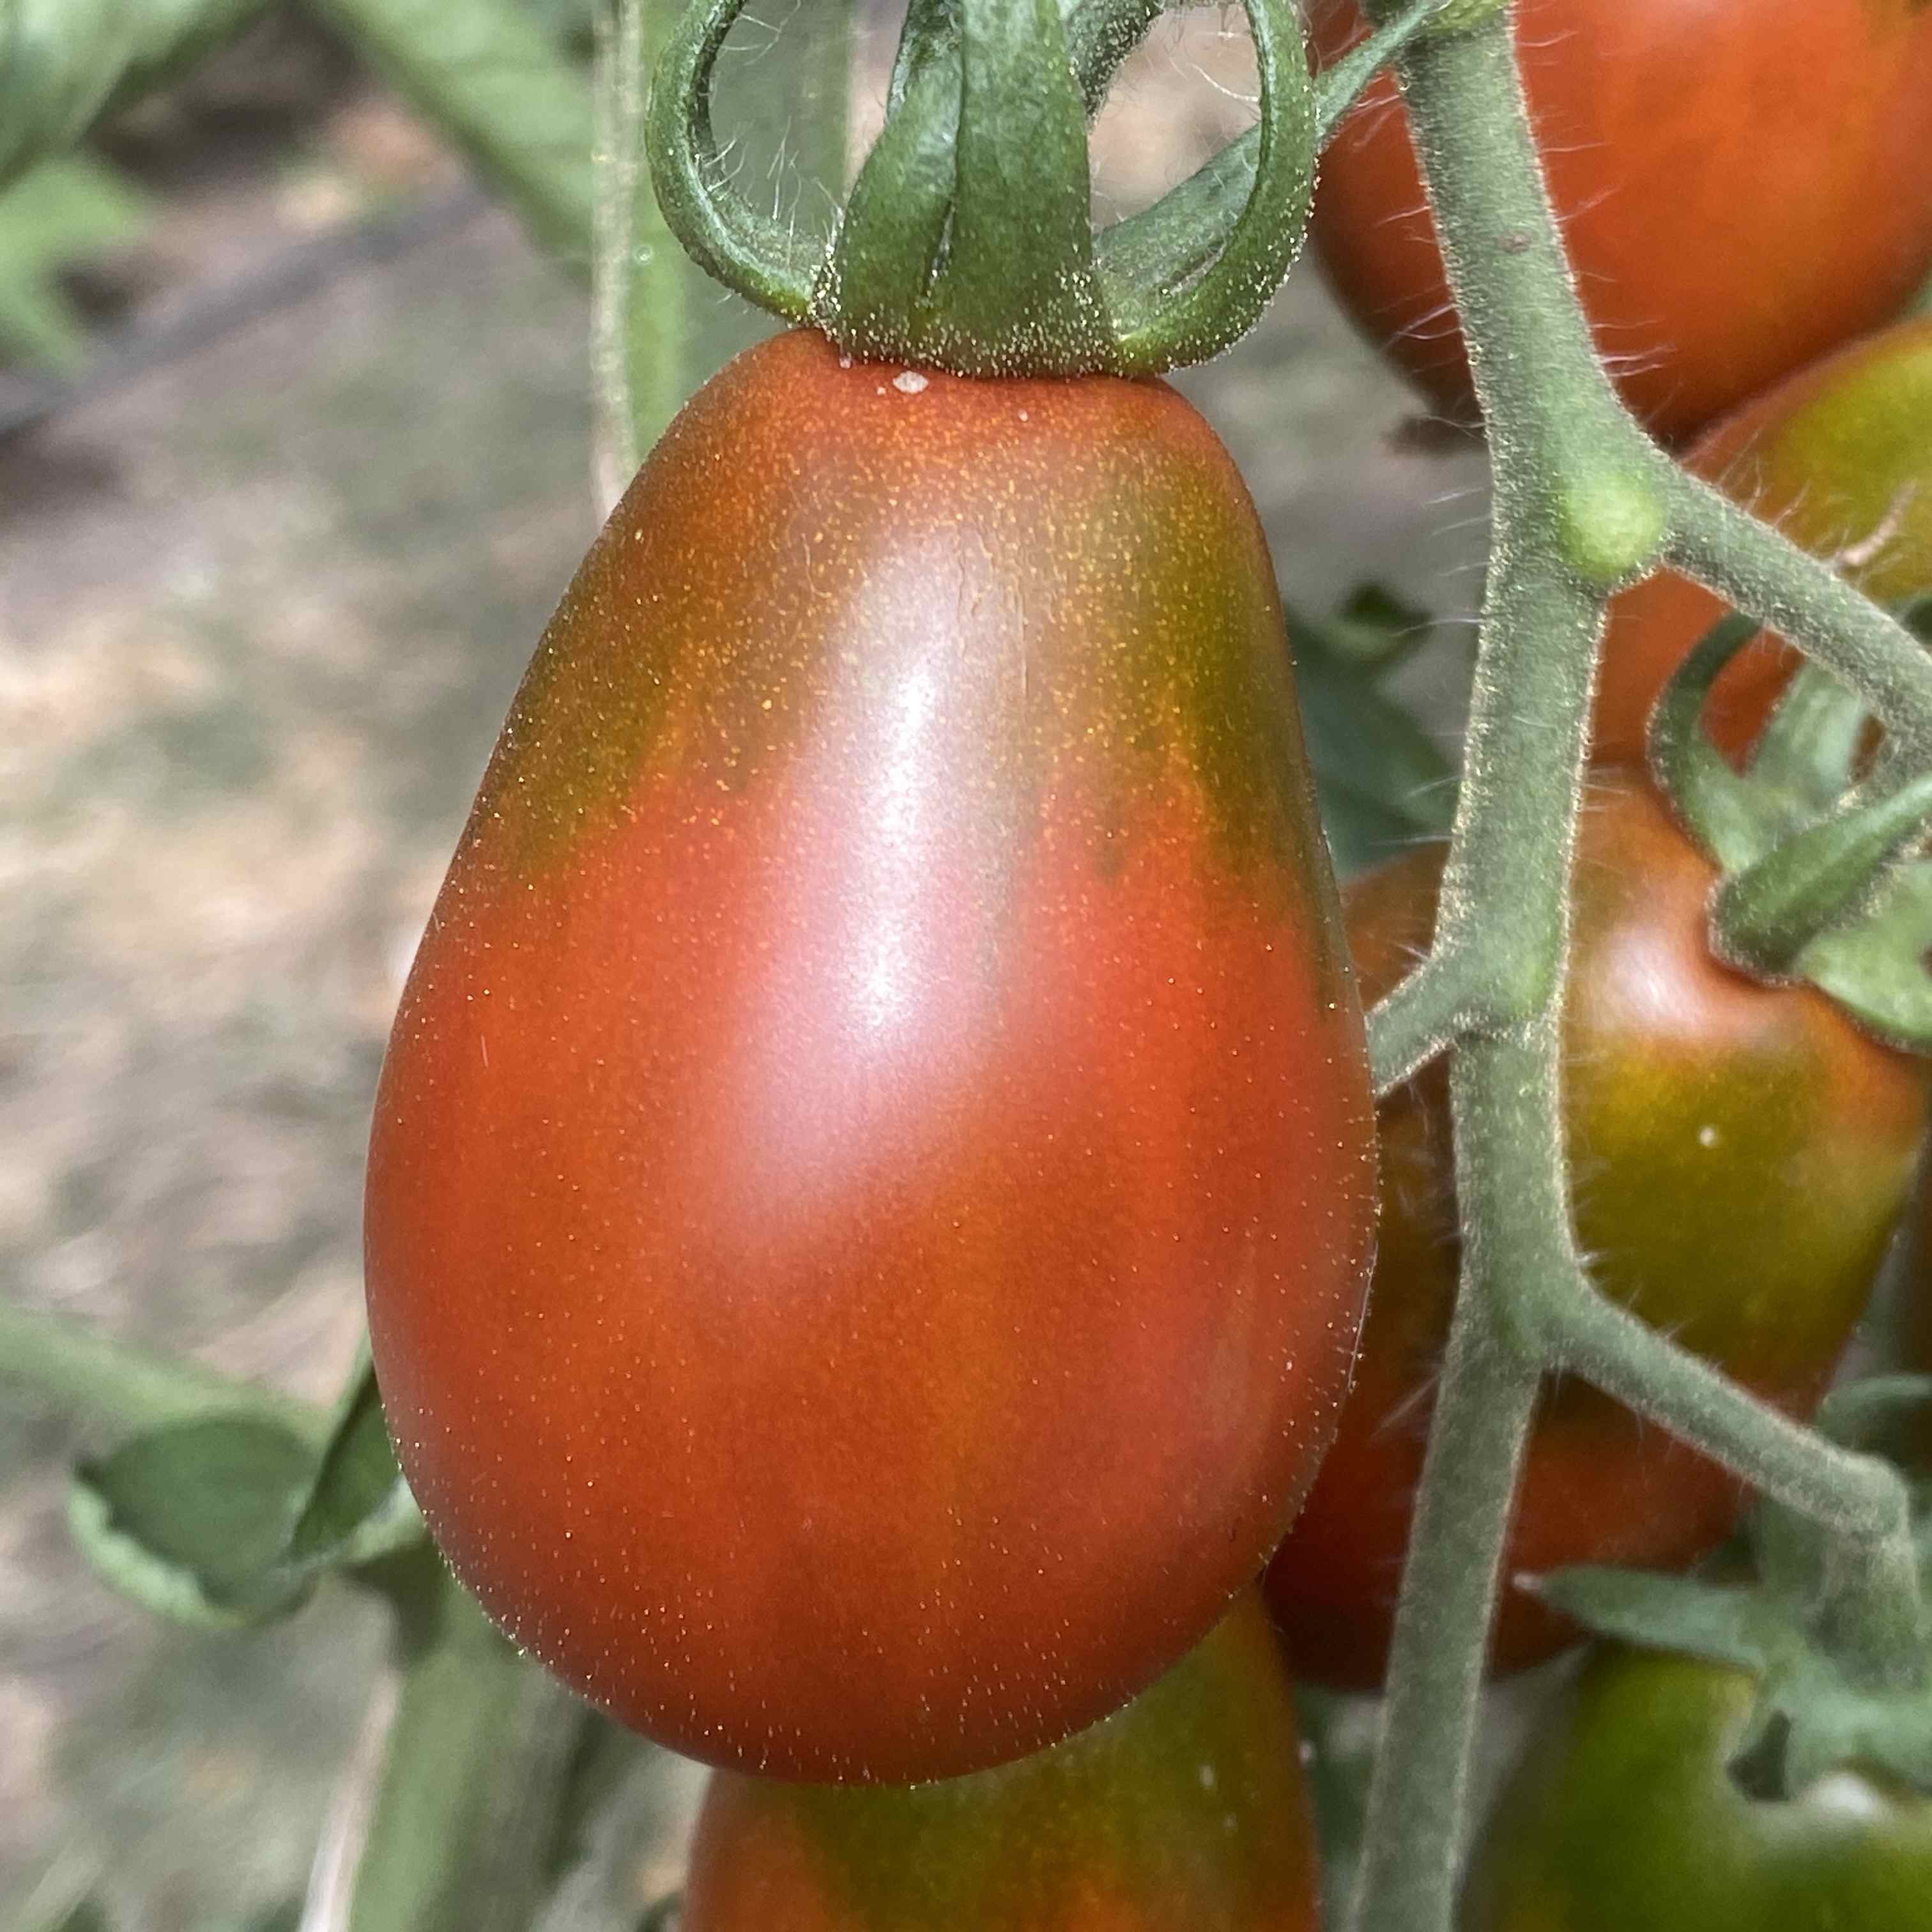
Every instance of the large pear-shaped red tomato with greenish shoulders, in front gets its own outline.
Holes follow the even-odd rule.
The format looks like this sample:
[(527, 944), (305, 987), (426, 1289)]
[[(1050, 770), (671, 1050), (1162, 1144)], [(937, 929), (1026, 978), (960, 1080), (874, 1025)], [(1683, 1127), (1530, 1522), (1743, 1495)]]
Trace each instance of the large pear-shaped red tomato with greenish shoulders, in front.
[(564, 595), (383, 1068), (375, 1362), (458, 1575), (713, 1764), (1037, 1750), (1287, 1528), (1374, 1192), (1208, 425), (742, 355)]

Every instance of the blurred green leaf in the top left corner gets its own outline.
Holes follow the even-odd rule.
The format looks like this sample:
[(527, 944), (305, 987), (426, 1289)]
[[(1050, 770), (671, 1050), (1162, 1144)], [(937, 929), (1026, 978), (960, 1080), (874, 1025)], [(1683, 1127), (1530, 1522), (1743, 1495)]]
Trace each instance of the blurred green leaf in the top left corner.
[(0, 0), (0, 184), (265, 12), (267, 0)]

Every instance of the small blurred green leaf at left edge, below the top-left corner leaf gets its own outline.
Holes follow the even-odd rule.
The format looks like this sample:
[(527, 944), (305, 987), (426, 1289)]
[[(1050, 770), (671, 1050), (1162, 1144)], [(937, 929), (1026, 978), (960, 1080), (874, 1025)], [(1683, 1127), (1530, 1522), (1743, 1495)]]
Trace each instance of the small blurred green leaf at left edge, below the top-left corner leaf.
[(0, 191), (0, 342), (62, 375), (87, 359), (87, 325), (58, 274), (139, 234), (149, 203), (106, 162), (64, 155)]

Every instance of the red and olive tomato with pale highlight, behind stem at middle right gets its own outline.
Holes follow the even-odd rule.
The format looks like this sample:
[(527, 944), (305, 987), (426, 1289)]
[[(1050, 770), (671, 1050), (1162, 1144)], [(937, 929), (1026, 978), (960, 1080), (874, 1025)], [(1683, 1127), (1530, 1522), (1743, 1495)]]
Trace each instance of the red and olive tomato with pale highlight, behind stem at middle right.
[[(1364, 999), (1428, 945), (1441, 848), (1347, 893)], [(1714, 867), (1636, 771), (1592, 784), (1563, 1022), (1577, 1233), (1604, 1293), (1762, 1399), (1810, 1414), (1911, 1182), (1932, 1072), (1806, 985), (1706, 951)], [(1457, 1221), (1439, 1066), (1381, 1107), (1383, 1206), (1368, 1327), (1335, 1447), (1267, 1588), (1300, 1675), (1370, 1689), (1387, 1662)], [(1503, 1555), (1492, 1667), (1577, 1633), (1509, 1578), (1567, 1563), (1675, 1569), (1731, 1528), (1739, 1486), (1580, 1381), (1544, 1389)]]

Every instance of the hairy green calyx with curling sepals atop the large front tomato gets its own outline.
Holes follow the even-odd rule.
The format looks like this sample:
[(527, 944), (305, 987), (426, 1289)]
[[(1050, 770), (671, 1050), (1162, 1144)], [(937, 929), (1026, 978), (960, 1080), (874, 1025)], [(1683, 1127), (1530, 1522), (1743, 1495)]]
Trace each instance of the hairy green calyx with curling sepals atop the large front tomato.
[(744, 0), (696, 0), (651, 89), (665, 220), (709, 274), (848, 355), (956, 375), (1155, 375), (1238, 340), (1300, 251), (1320, 135), (1441, 0), (1318, 85), (1293, 0), (1242, 0), (1260, 122), (1095, 238), (1086, 124), (1153, 0), (912, 0), (887, 120), (819, 251), (730, 184), (711, 79)]

